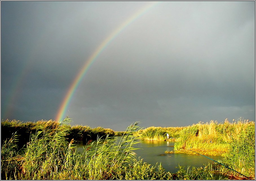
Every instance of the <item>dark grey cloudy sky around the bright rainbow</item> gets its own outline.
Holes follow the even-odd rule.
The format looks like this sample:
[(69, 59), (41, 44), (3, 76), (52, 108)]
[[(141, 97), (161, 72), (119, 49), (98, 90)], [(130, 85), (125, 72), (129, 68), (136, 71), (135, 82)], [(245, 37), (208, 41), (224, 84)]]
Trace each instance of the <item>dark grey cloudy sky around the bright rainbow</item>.
[[(1, 1), (1, 120), (56, 119), (89, 57), (150, 3)], [(153, 5), (92, 63), (67, 115), (115, 131), (255, 121), (255, 1)]]

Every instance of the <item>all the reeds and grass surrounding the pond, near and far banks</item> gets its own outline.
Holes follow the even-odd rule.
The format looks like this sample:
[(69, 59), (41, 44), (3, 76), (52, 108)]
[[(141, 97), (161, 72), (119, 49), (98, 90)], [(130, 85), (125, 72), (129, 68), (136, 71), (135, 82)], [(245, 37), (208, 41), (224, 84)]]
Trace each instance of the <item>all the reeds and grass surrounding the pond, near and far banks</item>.
[[(161, 164), (151, 166), (133, 152), (137, 139), (175, 140), (168, 154), (222, 155), (222, 164), (255, 178), (255, 123), (239, 119), (223, 124), (199, 122), (186, 127), (149, 127), (138, 122), (126, 131), (70, 126), (49, 121), (1, 122), (1, 180), (248, 180), (221, 165), (179, 168), (169, 173)], [(171, 139), (167, 139), (166, 133)], [(117, 138), (121, 137), (117, 142)], [(173, 138), (173, 139), (172, 139)], [(78, 141), (86, 144), (76, 154)], [(190, 151), (192, 150), (192, 151)]]

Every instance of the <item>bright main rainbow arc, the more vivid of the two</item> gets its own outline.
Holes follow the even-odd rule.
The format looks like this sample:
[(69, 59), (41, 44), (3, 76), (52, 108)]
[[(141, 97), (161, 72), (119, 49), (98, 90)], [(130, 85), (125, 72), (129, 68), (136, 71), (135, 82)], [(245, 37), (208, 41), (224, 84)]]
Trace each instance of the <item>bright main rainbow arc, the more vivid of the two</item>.
[(77, 87), (79, 86), (81, 80), (85, 76), (86, 72), (91, 67), (92, 63), (97, 59), (97, 57), (100, 55), (100, 53), (107, 47), (109, 43), (120, 33), (122, 30), (124, 30), (129, 24), (133, 23), (136, 19), (141, 17), (143, 14), (145, 14), (147, 11), (149, 11), (151, 8), (156, 6), (160, 2), (151, 2), (149, 5), (143, 7), (140, 9), (137, 13), (132, 15), (129, 19), (127, 19), (125, 22), (123, 22), (118, 28), (116, 28), (96, 49), (96, 51), (89, 57), (89, 59), (85, 62), (83, 68), (80, 70), (76, 78), (74, 79), (73, 83), (71, 84), (65, 98), (63, 99), (61, 106), (58, 110), (56, 121), (60, 122), (63, 120), (64, 114), (67, 111), (67, 107), (69, 106), (70, 100), (72, 96), (74, 95)]

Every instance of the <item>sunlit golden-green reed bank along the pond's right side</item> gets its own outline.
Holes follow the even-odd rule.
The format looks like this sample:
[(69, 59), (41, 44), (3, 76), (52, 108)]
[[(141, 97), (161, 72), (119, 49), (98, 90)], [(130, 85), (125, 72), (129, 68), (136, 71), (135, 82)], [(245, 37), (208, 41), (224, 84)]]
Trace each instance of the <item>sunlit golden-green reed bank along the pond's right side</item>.
[[(145, 140), (166, 140), (166, 133), (176, 138), (175, 153), (222, 155), (228, 167), (255, 178), (255, 123), (239, 119), (222, 124), (217, 121), (193, 124), (187, 127), (149, 127), (136, 134)], [(192, 151), (191, 151), (192, 150)], [(193, 152), (196, 151), (197, 153)], [(239, 178), (226, 167), (223, 172)]]

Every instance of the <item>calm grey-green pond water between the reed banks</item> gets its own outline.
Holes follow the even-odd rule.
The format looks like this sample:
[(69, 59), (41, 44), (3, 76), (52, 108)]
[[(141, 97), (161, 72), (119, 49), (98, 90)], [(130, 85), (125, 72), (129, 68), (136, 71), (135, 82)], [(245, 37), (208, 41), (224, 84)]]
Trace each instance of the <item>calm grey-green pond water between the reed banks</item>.
[[(138, 143), (134, 144), (134, 148), (139, 148), (134, 152), (137, 154), (137, 157), (143, 158), (143, 162), (147, 162), (151, 164), (151, 166), (155, 166), (156, 163), (158, 165), (162, 164), (165, 171), (169, 171), (171, 173), (176, 173), (179, 169), (175, 168), (180, 166), (184, 166), (184, 169), (187, 169), (187, 166), (195, 166), (195, 167), (203, 167), (204, 164), (211, 163), (213, 164), (213, 160), (221, 160), (223, 157), (221, 156), (207, 156), (213, 160), (210, 160), (202, 155), (189, 155), (186, 153), (173, 153), (168, 154), (165, 151), (172, 151), (174, 149), (175, 141), (147, 141), (147, 140), (138, 140)], [(84, 145), (85, 146), (85, 145)], [(77, 151), (82, 152), (83, 144), (77, 147)]]

